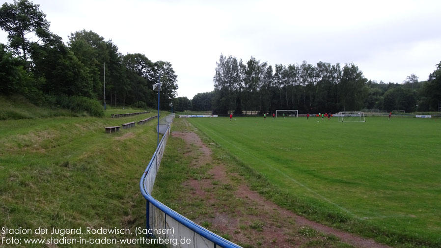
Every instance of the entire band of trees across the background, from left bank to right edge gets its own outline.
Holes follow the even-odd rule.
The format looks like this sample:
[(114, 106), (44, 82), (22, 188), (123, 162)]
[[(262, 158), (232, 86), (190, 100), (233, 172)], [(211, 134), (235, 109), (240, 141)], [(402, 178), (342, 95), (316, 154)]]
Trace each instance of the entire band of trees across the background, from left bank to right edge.
[[(367, 80), (353, 63), (318, 62), (274, 67), (251, 57), (221, 55), (213, 77), (214, 91), (193, 99), (175, 97), (177, 76), (170, 62), (153, 62), (143, 54), (122, 55), (112, 40), (91, 30), (71, 33), (64, 44), (52, 33), (39, 5), (28, 0), (3, 3), (0, 27), (8, 44), (0, 44), (0, 94), (26, 96), (36, 104), (63, 105), (63, 96), (94, 99), (114, 106), (156, 108), (152, 85), (161, 75), (161, 108), (225, 114), (293, 109), (337, 112), (361, 109), (438, 111), (441, 107), (441, 63), (419, 82)], [(35, 37), (33, 39), (32, 37)], [(35, 41), (36, 40), (36, 41)]]

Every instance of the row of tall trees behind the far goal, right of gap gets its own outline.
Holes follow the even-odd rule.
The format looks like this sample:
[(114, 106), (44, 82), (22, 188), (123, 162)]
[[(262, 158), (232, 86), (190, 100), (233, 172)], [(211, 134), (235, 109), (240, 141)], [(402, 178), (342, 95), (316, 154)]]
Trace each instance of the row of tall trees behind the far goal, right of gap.
[[(359, 111), (362, 109), (439, 111), (441, 107), (441, 63), (419, 82), (414, 74), (403, 83), (367, 80), (353, 63), (312, 65), (269, 65), (254, 57), (244, 62), (221, 55), (211, 99), (214, 113), (274, 112), (299, 110), (301, 113)], [(201, 102), (202, 95), (196, 95)], [(193, 98), (193, 101), (196, 99)], [(194, 106), (194, 103), (193, 103)], [(199, 108), (199, 107), (197, 107)]]

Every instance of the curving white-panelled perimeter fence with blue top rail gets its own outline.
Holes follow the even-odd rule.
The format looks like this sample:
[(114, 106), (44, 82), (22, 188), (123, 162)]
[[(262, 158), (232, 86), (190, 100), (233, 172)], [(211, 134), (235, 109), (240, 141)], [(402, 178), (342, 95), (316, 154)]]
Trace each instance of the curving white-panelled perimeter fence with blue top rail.
[[(173, 118), (174, 115), (169, 115), (163, 119), (164, 121), (160, 121), (160, 125), (167, 126), (164, 136), (139, 181), (141, 194), (146, 199), (146, 229), (149, 230), (149, 233), (152, 230), (151, 232), (155, 233), (152, 236), (156, 239), (174, 241), (168, 244), (164, 243), (169, 248), (241, 248), (176, 213), (151, 195), (156, 174), (164, 156), (165, 145), (170, 136), (170, 125)], [(160, 132), (164, 129), (164, 126), (159, 128)], [(162, 231), (155, 232), (154, 230)], [(172, 231), (168, 232), (168, 230)]]

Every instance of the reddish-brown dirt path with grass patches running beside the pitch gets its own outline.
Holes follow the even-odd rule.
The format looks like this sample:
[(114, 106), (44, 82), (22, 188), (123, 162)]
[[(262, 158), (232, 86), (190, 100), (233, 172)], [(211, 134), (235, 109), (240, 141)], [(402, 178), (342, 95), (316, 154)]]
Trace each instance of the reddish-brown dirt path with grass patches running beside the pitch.
[[(187, 121), (185, 123), (190, 129)], [(214, 162), (212, 151), (195, 133), (172, 132), (172, 137), (182, 138), (187, 146), (197, 148), (188, 149), (184, 154), (195, 158), (190, 166), (201, 170), (209, 166), (205, 168), (208, 178), (190, 179), (184, 184), (190, 189), (189, 197), (204, 202), (204, 207), (210, 209), (210, 214), (200, 215), (193, 221), (221, 236), (226, 235), (232, 242), (248, 247), (291, 248), (337, 247), (341, 240), (359, 248), (389, 248), (307, 220), (266, 200), (251, 191), (241, 176), (227, 172), (225, 165)]]

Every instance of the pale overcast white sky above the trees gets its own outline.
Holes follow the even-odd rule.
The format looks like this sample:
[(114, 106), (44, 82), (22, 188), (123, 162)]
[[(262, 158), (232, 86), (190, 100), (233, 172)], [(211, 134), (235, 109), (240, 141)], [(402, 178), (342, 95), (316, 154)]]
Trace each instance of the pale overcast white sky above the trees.
[[(170, 62), (177, 96), (189, 99), (214, 89), (221, 54), (273, 67), (354, 63), (368, 80), (385, 83), (411, 74), (425, 81), (441, 61), (440, 0), (30, 1), (65, 43), (91, 30), (123, 55)], [(0, 43), (6, 36), (0, 30)]]

